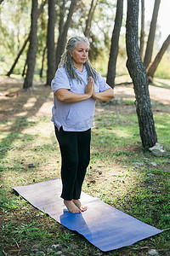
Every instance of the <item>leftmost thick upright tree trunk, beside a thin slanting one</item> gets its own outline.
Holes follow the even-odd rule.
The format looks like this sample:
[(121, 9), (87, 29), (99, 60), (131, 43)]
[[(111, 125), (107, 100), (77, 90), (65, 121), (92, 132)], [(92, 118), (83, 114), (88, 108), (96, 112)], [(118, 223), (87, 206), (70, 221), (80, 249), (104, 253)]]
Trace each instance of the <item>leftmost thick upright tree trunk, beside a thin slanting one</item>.
[(32, 86), (37, 55), (37, 0), (32, 0), (30, 45), (27, 54), (27, 72), (23, 88)]

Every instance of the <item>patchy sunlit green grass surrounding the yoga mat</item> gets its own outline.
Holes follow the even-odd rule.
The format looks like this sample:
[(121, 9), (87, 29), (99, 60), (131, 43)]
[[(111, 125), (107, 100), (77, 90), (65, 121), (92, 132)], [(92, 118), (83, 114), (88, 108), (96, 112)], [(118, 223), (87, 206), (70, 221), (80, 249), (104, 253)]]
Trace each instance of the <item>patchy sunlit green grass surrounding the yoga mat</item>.
[[(91, 161), (83, 191), (99, 197), (134, 218), (165, 231), (109, 253), (101, 253), (76, 232), (65, 229), (45, 212), (39, 212), (16, 195), (12, 186), (27, 185), (59, 177), (59, 146), (47, 116), (12, 117), (3, 121), (1, 139), (0, 255), (146, 255), (146, 247), (160, 255), (170, 249), (170, 160), (142, 150), (133, 102), (124, 108), (100, 104), (92, 129)], [(109, 110), (108, 108), (109, 107)], [(156, 103), (154, 113), (160, 143), (169, 152), (169, 113)], [(131, 111), (128, 112), (128, 108)], [(154, 106), (153, 106), (154, 109)], [(166, 107), (167, 109), (167, 107)], [(30, 165), (32, 167), (30, 167)], [(57, 247), (53, 247), (57, 245)], [(40, 255), (39, 253), (38, 255)]]

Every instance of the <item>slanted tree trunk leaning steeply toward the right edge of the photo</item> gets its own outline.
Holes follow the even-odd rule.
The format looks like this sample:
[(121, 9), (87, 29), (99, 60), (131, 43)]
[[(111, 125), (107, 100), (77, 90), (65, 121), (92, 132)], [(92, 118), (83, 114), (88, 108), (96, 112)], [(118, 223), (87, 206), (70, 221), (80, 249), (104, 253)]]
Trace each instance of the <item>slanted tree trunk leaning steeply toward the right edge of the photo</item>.
[(161, 58), (164, 55), (164, 53), (166, 52), (167, 47), (169, 46), (169, 44), (170, 44), (170, 34), (168, 35), (165, 42), (162, 44), (161, 49), (158, 52), (158, 54), (156, 55), (155, 60), (152, 62), (152, 64), (150, 65), (150, 67), (147, 70), (147, 75), (148, 75), (149, 82), (152, 82), (153, 77), (154, 77), (154, 73), (156, 72), (156, 68), (158, 67), (159, 63), (161, 62)]

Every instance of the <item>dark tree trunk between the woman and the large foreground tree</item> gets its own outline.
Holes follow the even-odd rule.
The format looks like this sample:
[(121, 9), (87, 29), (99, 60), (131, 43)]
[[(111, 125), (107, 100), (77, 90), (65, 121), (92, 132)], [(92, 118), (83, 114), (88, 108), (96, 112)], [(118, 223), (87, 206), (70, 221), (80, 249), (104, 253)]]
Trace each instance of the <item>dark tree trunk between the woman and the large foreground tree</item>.
[(107, 84), (114, 88), (116, 77), (116, 59), (119, 48), (119, 35), (122, 26), (123, 0), (117, 0), (115, 26), (111, 38), (111, 52), (107, 71)]

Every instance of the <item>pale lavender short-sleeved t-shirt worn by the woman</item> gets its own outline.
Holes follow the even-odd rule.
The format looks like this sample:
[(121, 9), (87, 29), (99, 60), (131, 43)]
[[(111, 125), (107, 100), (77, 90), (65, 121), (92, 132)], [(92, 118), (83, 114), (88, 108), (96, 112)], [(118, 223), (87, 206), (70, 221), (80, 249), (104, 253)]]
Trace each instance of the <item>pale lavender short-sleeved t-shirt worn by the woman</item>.
[[(88, 84), (88, 73), (84, 66), (82, 73), (77, 71), (82, 84), (76, 79), (68, 77), (65, 67), (59, 67), (51, 83), (51, 88), (55, 93), (59, 89), (68, 89), (71, 92), (84, 94), (85, 86)], [(106, 84), (99, 73), (97, 73), (97, 82), (94, 83), (95, 91), (101, 92), (111, 88)], [(94, 126), (95, 99), (93, 97), (82, 102), (59, 102), (54, 95), (54, 107), (52, 108), (52, 122), (59, 129), (63, 127), (64, 131), (87, 131)]]

